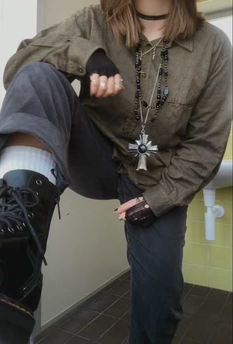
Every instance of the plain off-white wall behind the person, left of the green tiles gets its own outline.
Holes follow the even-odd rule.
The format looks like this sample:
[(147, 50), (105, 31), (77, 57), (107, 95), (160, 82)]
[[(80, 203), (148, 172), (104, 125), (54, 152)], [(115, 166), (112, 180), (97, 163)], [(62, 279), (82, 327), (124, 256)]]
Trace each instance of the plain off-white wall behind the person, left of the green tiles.
[[(44, 25), (95, 3), (99, 1), (45, 0)], [(48, 267), (43, 268), (42, 324), (129, 267), (123, 224), (114, 214), (117, 206), (117, 200), (95, 201), (65, 191), (62, 220), (56, 209), (46, 254)]]

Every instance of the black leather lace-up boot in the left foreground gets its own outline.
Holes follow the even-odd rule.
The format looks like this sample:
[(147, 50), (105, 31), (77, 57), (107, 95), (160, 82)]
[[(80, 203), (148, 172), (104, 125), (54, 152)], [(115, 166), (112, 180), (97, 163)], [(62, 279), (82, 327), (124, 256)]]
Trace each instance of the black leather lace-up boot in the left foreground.
[[(57, 187), (37, 172), (13, 170), (0, 180), (0, 314), (4, 311), (6, 318), (12, 314), (12, 338), (14, 331), (28, 333), (21, 341), (7, 342), (9, 321), (0, 317), (0, 344), (27, 344), (33, 331), (31, 320), (42, 290), (41, 265), (42, 261), (47, 265), (44, 254), (58, 200)], [(23, 324), (32, 328), (26, 330)]]

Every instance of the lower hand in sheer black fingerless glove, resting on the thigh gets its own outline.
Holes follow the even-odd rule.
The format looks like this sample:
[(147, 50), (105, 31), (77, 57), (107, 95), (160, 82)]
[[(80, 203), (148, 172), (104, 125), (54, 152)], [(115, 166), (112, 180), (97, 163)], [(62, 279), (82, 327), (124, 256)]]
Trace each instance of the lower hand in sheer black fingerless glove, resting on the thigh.
[(147, 227), (157, 219), (144, 197), (131, 199), (122, 204), (115, 213), (120, 214), (119, 220), (130, 221), (140, 227)]

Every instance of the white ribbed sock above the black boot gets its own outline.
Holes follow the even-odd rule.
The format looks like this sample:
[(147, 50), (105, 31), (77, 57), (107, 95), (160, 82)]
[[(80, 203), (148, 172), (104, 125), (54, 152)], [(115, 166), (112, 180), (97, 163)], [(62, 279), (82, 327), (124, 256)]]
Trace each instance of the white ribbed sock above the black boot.
[(40, 148), (28, 146), (10, 146), (0, 151), (0, 178), (8, 171), (30, 170), (41, 173), (56, 185), (56, 178), (51, 169), (55, 169), (56, 162), (53, 154)]

